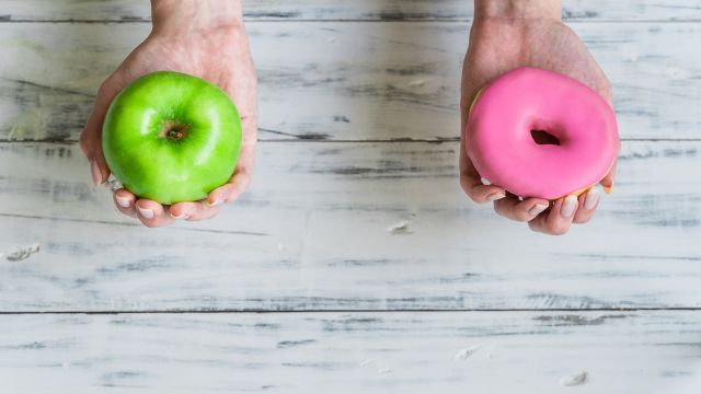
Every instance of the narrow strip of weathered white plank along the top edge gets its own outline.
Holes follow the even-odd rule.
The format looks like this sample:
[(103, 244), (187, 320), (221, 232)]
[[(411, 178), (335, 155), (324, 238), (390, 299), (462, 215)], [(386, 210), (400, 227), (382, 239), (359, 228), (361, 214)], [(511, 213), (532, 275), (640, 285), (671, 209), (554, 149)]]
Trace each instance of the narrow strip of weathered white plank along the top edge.
[[(364, 20), (435, 21), (472, 18), (469, 0), (244, 0), (248, 20)], [(0, 15), (9, 21), (148, 21), (147, 1), (3, 0)], [(694, 0), (604, 1), (565, 0), (565, 20), (584, 21), (699, 21)]]

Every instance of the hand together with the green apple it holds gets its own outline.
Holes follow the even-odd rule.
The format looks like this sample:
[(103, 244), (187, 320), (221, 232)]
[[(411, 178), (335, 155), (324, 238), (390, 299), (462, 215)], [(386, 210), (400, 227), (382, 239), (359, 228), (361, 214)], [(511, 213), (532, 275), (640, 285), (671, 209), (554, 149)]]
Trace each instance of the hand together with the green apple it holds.
[[(114, 192), (114, 202), (119, 211), (138, 218), (147, 227), (161, 227), (176, 219), (192, 221), (210, 218), (218, 212), (220, 204), (237, 199), (249, 185), (255, 161), (257, 81), (241, 20), (239, 1), (202, 0), (195, 4), (188, 1), (152, 0), (152, 19), (151, 34), (100, 86), (93, 112), (80, 136), (80, 147), (91, 163), (95, 185), (107, 179), (111, 166), (114, 166), (115, 176), (125, 184), (126, 188)], [(235, 104), (241, 119), (240, 148), (237, 148), (238, 134), (234, 130), (235, 127), (231, 127), (232, 125), (227, 128), (229, 131), (199, 134), (199, 137), (194, 134), (204, 129), (211, 131), (210, 127), (200, 128), (211, 115), (207, 112), (231, 114), (233, 106), (228, 107), (223, 104), (223, 101), (219, 100), (221, 95), (211, 93), (212, 90), (206, 90), (211, 94), (205, 94), (195, 100), (205, 101), (207, 104), (196, 103), (186, 119), (175, 116), (184, 114), (175, 114), (180, 111), (177, 105), (170, 109), (173, 111), (172, 113), (168, 112), (168, 105), (164, 103), (168, 101), (166, 95), (173, 95), (170, 93), (163, 96), (147, 94), (146, 96), (150, 97), (147, 101), (150, 103), (141, 103), (143, 105), (136, 102), (130, 105), (128, 103), (130, 100), (117, 99), (119, 106), (126, 103), (126, 107), (133, 109), (146, 108), (153, 105), (156, 101), (162, 101), (160, 107), (152, 107), (154, 111), (158, 109), (157, 112), (162, 111), (162, 118), (160, 123), (151, 118), (154, 121), (151, 130), (157, 129), (157, 132), (152, 135), (154, 140), (148, 143), (135, 141), (134, 138), (138, 139), (138, 136), (128, 136), (128, 132), (123, 131), (119, 125), (126, 124), (111, 121), (112, 116), (107, 116), (107, 109), (115, 97), (140, 77), (162, 70), (172, 70), (177, 73), (157, 73), (157, 76), (194, 76), (211, 83), (209, 88), (214, 91), (218, 91), (214, 86), (216, 85), (221, 90), (220, 93), (226, 93)], [(165, 80), (172, 81), (170, 78)], [(175, 84), (180, 85), (180, 83)], [(215, 100), (215, 96), (218, 99)], [(184, 102), (185, 100), (181, 103), (181, 109)], [(124, 112), (125, 121), (131, 121), (131, 125), (139, 118), (139, 116), (135, 117), (135, 113), (128, 108), (122, 108), (118, 112)], [(115, 109), (114, 114), (116, 113)], [(145, 113), (141, 115), (146, 116)], [(106, 147), (103, 147), (102, 142), (103, 124), (105, 129), (111, 130), (107, 131), (110, 142), (106, 142), (106, 146), (115, 147), (114, 151), (112, 148), (103, 151)], [(131, 130), (137, 129), (131, 128)], [(123, 132), (125, 135), (122, 135)], [(209, 137), (200, 139), (205, 135)], [(230, 141), (229, 138), (231, 138)], [(219, 141), (220, 147), (223, 148), (214, 149), (212, 147), (219, 143), (212, 141)], [(130, 147), (124, 148), (126, 144)], [(237, 161), (238, 149), (240, 153)], [(160, 152), (158, 160), (154, 155), (157, 151)], [(136, 157), (125, 154), (127, 152)], [(205, 160), (203, 155), (208, 157), (209, 160)], [(222, 170), (205, 170), (209, 167), (208, 165), (187, 172), (184, 170), (186, 165), (179, 164), (176, 159), (179, 157), (210, 162), (211, 169), (226, 166), (229, 175), (225, 176)], [(131, 171), (135, 165), (129, 170), (129, 165), (117, 164), (122, 161), (130, 161), (135, 165), (140, 163), (138, 165), (145, 171)], [(231, 172), (234, 162), (235, 169)], [(161, 171), (164, 167), (180, 170), (164, 175), (165, 173)], [(165, 178), (165, 176), (175, 176), (174, 174), (180, 174), (180, 178)], [(223, 185), (217, 186), (221, 183)], [(145, 189), (139, 186), (141, 184), (148, 184), (150, 187)], [(207, 194), (207, 189), (211, 187), (215, 188)], [(159, 200), (166, 205), (162, 205)]]

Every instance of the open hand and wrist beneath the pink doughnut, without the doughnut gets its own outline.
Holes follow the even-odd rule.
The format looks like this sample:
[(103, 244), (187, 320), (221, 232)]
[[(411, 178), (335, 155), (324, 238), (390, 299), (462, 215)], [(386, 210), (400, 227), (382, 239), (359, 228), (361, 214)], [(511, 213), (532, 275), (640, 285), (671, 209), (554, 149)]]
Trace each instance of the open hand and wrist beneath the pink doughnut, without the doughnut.
[[(593, 187), (578, 197), (571, 195), (552, 204), (542, 198), (520, 200), (498, 185), (483, 185), (464, 149), (463, 130), (478, 91), (501, 74), (524, 66), (574, 78), (599, 92), (612, 106), (609, 81), (579, 37), (562, 23), (560, 1), (475, 0), (462, 69), (460, 185), (475, 202), (492, 201), (498, 215), (528, 222), (531, 230), (561, 235), (571, 223), (591, 219), (598, 206), (598, 189)], [(616, 163), (600, 182), (607, 192), (613, 186), (614, 172)]]

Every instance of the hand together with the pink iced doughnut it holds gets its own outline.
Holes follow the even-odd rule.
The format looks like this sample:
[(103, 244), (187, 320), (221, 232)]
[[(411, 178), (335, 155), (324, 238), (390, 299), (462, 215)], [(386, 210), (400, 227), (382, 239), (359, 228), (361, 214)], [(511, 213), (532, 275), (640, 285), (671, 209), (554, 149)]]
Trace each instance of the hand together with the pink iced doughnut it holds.
[[(555, 73), (561, 83), (553, 83), (558, 88), (549, 93), (554, 94), (554, 104), (536, 105), (536, 96), (540, 97), (545, 90), (544, 85), (535, 84), (520, 97), (512, 97), (513, 91), (509, 90), (506, 94), (507, 100), (519, 99), (522, 105), (518, 106), (518, 111), (526, 112), (505, 115), (505, 111), (499, 111), (496, 114), (498, 117), (508, 117), (512, 125), (517, 126), (513, 132), (524, 131), (519, 137), (522, 139), (510, 134), (502, 136), (508, 137), (506, 140), (492, 139), (498, 136), (487, 135), (484, 138), (471, 136), (473, 128), (468, 127), (469, 121), (472, 125), (490, 118), (489, 116), (470, 118), (471, 103), (474, 103), (473, 115), (478, 114), (478, 109), (482, 113), (484, 108), (480, 107), (486, 103), (483, 101), (486, 97), (486, 90), (496, 86), (496, 81), (503, 76), (524, 67)], [(573, 95), (561, 92), (562, 89), (570, 89), (572, 85), (581, 90), (582, 86), (577, 83), (590, 88), (602, 97), (608, 104), (606, 111), (602, 109), (604, 114), (610, 111), (612, 95), (609, 80), (582, 39), (562, 23), (561, 2), (474, 1), (474, 20), (470, 28), (469, 47), (462, 68), (460, 103), (460, 186), (470, 199), (478, 204), (490, 202), (499, 216), (528, 223), (528, 228), (533, 231), (553, 235), (565, 234), (573, 223), (586, 223), (594, 218), (600, 200), (599, 188), (591, 187), (586, 192), (582, 189), (591, 186), (600, 176), (604, 176), (599, 182), (604, 190), (611, 189), (616, 177), (616, 159), (612, 152), (618, 149), (618, 144), (602, 142), (604, 148), (600, 149), (599, 155), (593, 159), (589, 153), (586, 153), (593, 150), (588, 148), (579, 150), (582, 148), (579, 143), (577, 147), (572, 146), (571, 143), (575, 141), (567, 139), (568, 135), (563, 135), (571, 131), (572, 123), (582, 124), (583, 121), (573, 120), (574, 118), (568, 116), (517, 118), (518, 114), (520, 116), (538, 115), (541, 111), (550, 115), (555, 112), (555, 108), (559, 108), (555, 115), (571, 111), (578, 116), (585, 116), (584, 108), (579, 107), (582, 104), (578, 102), (575, 104), (572, 100)], [(480, 90), (485, 93), (475, 102)], [(589, 103), (587, 100), (586, 105), (594, 113), (599, 114), (597, 118), (600, 121), (611, 123), (612, 114), (601, 116), (601, 113), (596, 111), (597, 106), (601, 107), (600, 101), (589, 93), (591, 92), (589, 91), (587, 96), (593, 99), (593, 102)], [(491, 120), (490, 123), (498, 125), (499, 120), (506, 119), (496, 120), (496, 123)], [(539, 138), (531, 138), (531, 128), (544, 129), (543, 131), (550, 132), (560, 144), (539, 144), (538, 142), (542, 141)], [(499, 130), (490, 130), (492, 134), (497, 131)], [(584, 141), (584, 146), (598, 143), (597, 139), (607, 140), (604, 135), (600, 131), (598, 137), (584, 135), (584, 139), (581, 140), (577, 137), (576, 141)], [(533, 132), (533, 136), (540, 135)], [(613, 140), (613, 135), (609, 135), (609, 138)], [(478, 149), (476, 139), (480, 143), (487, 142), (496, 146)], [(524, 144), (528, 144), (528, 150), (521, 148)], [(551, 155), (551, 152), (556, 151), (562, 152)], [(560, 155), (560, 159), (555, 159), (555, 155)], [(504, 165), (504, 162), (499, 161), (503, 158), (514, 159), (504, 171), (498, 166)], [(538, 163), (541, 165), (537, 165)], [(542, 165), (543, 163), (545, 165)], [(606, 170), (601, 169), (608, 166), (610, 170), (602, 175), (601, 173)], [(489, 179), (491, 184), (484, 185), (482, 177)], [(517, 195), (524, 198), (518, 198)]]

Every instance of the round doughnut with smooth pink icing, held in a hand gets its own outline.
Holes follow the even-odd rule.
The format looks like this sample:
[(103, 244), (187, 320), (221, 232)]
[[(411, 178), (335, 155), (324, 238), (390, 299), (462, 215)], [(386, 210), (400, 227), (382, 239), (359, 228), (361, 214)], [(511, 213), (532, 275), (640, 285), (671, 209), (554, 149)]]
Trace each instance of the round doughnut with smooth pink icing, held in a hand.
[[(531, 130), (554, 136), (540, 144)], [(579, 194), (609, 172), (618, 127), (609, 104), (585, 84), (537, 68), (509, 71), (470, 108), (466, 150), (480, 176), (521, 197)]]

